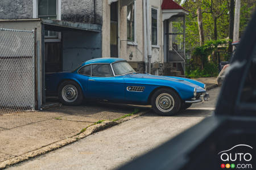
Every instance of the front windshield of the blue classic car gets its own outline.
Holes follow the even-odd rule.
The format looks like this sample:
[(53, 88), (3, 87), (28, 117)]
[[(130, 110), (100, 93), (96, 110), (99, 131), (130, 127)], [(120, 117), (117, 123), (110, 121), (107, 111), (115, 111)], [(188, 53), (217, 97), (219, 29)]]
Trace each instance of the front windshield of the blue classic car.
[(133, 67), (129, 65), (126, 61), (115, 62), (112, 64), (115, 75), (122, 75), (127, 73), (135, 72)]

